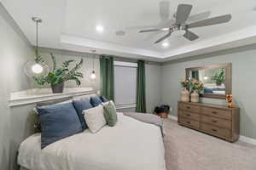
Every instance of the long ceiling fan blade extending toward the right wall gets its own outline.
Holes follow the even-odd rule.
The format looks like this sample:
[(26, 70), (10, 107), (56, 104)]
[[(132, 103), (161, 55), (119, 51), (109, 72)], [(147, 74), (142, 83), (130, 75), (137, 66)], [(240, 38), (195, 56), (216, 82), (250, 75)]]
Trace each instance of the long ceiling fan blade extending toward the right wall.
[(188, 28), (195, 28), (195, 27), (201, 27), (201, 26), (212, 26), (217, 24), (222, 24), (225, 22), (229, 22), (231, 20), (232, 16), (231, 14), (225, 14), (217, 17), (213, 17), (207, 20), (200, 20), (194, 23), (191, 23), (188, 25)]

